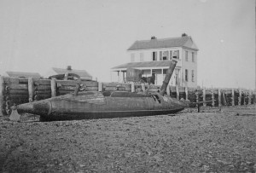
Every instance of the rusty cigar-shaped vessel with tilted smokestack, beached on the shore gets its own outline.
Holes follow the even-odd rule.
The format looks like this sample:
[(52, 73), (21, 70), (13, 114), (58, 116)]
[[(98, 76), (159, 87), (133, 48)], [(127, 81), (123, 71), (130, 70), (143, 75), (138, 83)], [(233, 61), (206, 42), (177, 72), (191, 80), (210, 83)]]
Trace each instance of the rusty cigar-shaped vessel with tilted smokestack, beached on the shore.
[(169, 84), (176, 64), (177, 61), (171, 62), (159, 93), (79, 92), (78, 84), (74, 93), (13, 107), (10, 119), (19, 119), (20, 115), (17, 112), (38, 114), (43, 121), (122, 118), (180, 112), (187, 104), (165, 95), (167, 84)]

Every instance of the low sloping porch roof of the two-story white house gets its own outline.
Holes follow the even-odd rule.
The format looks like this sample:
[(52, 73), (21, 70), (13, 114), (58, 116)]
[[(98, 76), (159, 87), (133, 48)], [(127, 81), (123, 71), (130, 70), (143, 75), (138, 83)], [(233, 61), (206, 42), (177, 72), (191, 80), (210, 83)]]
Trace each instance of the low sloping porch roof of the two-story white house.
[(156, 66), (170, 66), (171, 61), (144, 61), (144, 62), (129, 62), (119, 66), (114, 66), (112, 69), (118, 68), (139, 68), (139, 67), (156, 67)]

